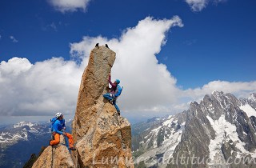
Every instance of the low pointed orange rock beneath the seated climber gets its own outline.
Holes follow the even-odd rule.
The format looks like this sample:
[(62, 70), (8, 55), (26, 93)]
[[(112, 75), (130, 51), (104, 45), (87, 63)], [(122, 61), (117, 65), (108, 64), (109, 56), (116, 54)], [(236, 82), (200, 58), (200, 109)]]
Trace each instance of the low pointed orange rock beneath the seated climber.
[(32, 168), (74, 167), (70, 152), (64, 144), (65, 140), (61, 136), (60, 143), (56, 146), (48, 146), (43, 150), (38, 160), (34, 162)]

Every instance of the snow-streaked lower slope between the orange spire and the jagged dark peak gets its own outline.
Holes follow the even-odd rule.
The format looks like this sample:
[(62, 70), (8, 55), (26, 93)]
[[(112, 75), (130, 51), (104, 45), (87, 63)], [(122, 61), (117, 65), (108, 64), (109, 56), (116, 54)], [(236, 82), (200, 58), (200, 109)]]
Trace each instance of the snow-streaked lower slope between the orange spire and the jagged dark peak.
[(165, 159), (169, 160), (180, 142), (185, 117), (186, 114), (181, 113), (167, 118), (152, 118), (132, 126), (132, 150), (135, 157), (139, 156), (135, 163), (146, 158), (147, 167), (156, 166), (155, 162), (163, 158), (164, 154), (168, 155)]

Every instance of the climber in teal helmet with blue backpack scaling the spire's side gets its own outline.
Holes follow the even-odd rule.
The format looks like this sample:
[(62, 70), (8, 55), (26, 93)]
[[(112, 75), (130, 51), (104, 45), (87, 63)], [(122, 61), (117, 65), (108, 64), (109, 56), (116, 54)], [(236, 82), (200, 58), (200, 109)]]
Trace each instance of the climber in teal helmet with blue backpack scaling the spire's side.
[(122, 93), (122, 88), (118, 85), (120, 83), (120, 80), (116, 79), (114, 83), (111, 82), (111, 74), (109, 74), (109, 83), (111, 85), (110, 93), (104, 94), (103, 97), (109, 100), (110, 103), (114, 105), (114, 107), (118, 111), (118, 115), (120, 115), (120, 110), (118, 108), (118, 105), (116, 104), (118, 96)]

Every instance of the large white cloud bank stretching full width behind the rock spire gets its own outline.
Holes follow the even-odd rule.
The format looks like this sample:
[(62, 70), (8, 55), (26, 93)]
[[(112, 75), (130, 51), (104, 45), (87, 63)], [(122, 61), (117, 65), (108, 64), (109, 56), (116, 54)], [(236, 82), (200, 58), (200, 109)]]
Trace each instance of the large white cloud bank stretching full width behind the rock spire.
[[(74, 60), (51, 58), (31, 64), (26, 58), (11, 58), (0, 64), (0, 115), (52, 115), (56, 111), (74, 114), (78, 87), (90, 50), (97, 42), (116, 52), (112, 80), (124, 86), (118, 106), (126, 116), (161, 116), (187, 110), (188, 102), (200, 100), (214, 90), (247, 96), (256, 92), (256, 82), (213, 81), (195, 89), (182, 90), (156, 54), (166, 43), (172, 26), (182, 26), (178, 17), (145, 18), (127, 28), (120, 38), (84, 37), (70, 44)], [(139, 116), (141, 115), (141, 116)]]

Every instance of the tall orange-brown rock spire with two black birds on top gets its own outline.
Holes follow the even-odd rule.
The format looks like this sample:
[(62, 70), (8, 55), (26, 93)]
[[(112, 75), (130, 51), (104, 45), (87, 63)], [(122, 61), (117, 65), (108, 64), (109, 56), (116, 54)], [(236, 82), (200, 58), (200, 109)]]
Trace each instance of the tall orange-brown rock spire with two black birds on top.
[(82, 75), (72, 133), (77, 167), (134, 167), (130, 123), (102, 97), (114, 60), (114, 51), (95, 47)]

